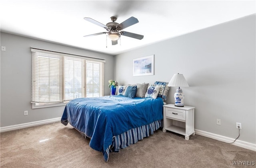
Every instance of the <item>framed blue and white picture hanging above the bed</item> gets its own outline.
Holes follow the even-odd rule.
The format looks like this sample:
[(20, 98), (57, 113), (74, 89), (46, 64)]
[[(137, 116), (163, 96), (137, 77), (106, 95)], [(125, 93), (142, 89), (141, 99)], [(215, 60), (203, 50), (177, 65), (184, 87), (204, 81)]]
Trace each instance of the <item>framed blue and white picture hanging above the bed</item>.
[(154, 55), (133, 59), (132, 76), (154, 75)]

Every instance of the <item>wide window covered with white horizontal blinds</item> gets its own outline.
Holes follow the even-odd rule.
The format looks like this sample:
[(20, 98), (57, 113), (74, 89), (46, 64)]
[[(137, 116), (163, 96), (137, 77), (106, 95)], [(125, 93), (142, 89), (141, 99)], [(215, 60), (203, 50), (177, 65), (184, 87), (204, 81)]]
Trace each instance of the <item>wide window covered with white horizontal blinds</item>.
[(104, 60), (31, 48), (32, 108), (104, 93)]

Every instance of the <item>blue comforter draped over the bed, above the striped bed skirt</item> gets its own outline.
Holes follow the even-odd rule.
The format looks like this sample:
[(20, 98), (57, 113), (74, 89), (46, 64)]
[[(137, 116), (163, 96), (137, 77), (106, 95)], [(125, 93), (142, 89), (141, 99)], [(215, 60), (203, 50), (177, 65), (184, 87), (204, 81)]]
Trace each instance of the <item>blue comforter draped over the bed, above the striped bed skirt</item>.
[(163, 118), (162, 98), (104, 96), (77, 98), (66, 105), (61, 122), (70, 123), (90, 137), (90, 147), (102, 152), (108, 161), (112, 138), (129, 129)]

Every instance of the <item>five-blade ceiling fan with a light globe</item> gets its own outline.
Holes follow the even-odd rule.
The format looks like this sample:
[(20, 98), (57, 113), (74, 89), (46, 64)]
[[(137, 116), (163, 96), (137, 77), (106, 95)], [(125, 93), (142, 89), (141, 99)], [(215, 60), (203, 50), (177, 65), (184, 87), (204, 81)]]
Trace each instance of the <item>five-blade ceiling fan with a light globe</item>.
[(94, 36), (94, 35), (101, 35), (101, 34), (107, 34), (108, 37), (111, 39), (112, 41), (112, 45), (116, 45), (118, 44), (117, 40), (121, 37), (121, 35), (127, 36), (127, 37), (132, 37), (134, 39), (143, 39), (144, 35), (139, 35), (139, 34), (135, 34), (135, 33), (130, 33), (127, 31), (122, 31), (122, 29), (125, 29), (131, 25), (134, 25), (136, 23), (138, 23), (138, 19), (134, 18), (134, 17), (130, 17), (129, 19), (123, 21), (122, 23), (116, 23), (115, 21), (117, 20), (116, 17), (112, 16), (110, 17), (112, 22), (107, 23), (106, 25), (93, 20), (92, 18), (84, 18), (84, 20), (86, 21), (90, 21), (91, 23), (94, 23), (100, 27), (103, 27), (104, 29), (106, 29), (106, 32), (101, 32), (101, 33), (95, 33), (95, 34), (91, 34), (91, 35), (85, 35), (84, 37), (89, 37), (89, 36)]

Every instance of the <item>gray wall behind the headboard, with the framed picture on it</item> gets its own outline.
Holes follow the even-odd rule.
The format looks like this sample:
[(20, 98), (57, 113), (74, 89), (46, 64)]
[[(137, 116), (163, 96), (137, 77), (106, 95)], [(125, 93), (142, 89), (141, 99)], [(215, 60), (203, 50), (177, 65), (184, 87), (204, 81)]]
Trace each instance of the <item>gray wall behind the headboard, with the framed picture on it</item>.
[[(194, 106), (195, 129), (256, 143), (255, 14), (116, 55), (120, 84), (169, 82), (184, 74), (185, 105)], [(143, 39), (142, 39), (143, 40)], [(153, 76), (132, 76), (132, 59), (155, 55)], [(171, 87), (168, 104), (174, 104)], [(221, 125), (216, 125), (221, 119)]]

